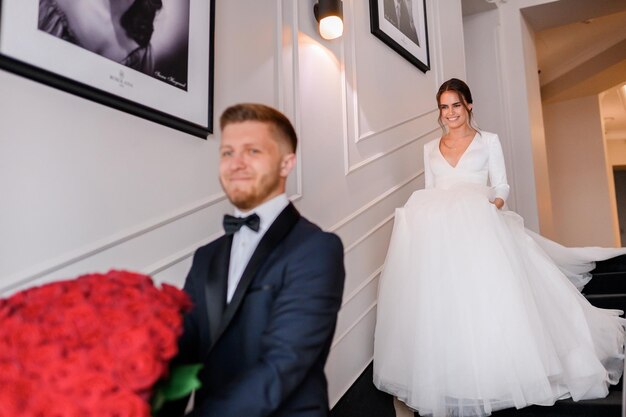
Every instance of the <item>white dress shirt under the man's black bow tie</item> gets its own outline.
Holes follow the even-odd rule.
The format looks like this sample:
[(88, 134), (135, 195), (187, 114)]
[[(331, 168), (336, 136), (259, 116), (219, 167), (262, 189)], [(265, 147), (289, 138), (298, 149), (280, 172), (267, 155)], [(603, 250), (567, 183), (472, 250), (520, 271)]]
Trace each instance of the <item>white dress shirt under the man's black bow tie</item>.
[(235, 216), (237, 217), (246, 217), (252, 213), (256, 213), (261, 219), (261, 223), (258, 232), (243, 226), (233, 235), (233, 245), (230, 248), (230, 265), (228, 267), (227, 303), (230, 303), (230, 300), (232, 300), (237, 285), (239, 285), (239, 280), (241, 280), (241, 276), (243, 275), (243, 271), (246, 269), (261, 238), (272, 223), (274, 223), (278, 215), (288, 205), (289, 199), (287, 195), (281, 194), (248, 212), (235, 209)]

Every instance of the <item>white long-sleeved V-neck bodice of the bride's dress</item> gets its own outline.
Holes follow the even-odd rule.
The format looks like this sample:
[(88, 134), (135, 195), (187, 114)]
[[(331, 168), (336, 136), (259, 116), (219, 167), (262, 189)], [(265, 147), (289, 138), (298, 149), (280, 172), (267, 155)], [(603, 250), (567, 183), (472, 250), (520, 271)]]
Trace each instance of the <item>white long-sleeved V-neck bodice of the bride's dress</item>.
[(424, 145), (426, 188), (447, 189), (462, 183), (490, 185), (494, 197), (506, 200), (509, 185), (498, 135), (477, 133), (455, 167), (441, 153), (440, 140), (438, 138)]

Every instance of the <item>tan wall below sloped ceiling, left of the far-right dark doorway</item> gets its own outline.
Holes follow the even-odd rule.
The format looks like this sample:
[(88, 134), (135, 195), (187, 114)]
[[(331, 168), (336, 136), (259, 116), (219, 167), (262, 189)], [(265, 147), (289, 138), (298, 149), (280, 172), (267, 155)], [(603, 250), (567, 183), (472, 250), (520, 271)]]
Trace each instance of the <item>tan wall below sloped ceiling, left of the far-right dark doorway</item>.
[(620, 246), (597, 96), (544, 104), (556, 240)]

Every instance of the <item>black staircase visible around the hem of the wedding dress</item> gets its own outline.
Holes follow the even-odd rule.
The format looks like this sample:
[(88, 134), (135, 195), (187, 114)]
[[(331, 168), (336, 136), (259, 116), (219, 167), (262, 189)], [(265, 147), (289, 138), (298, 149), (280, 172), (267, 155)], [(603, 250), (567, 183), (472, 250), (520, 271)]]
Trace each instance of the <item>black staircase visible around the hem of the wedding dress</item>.
[[(593, 279), (583, 290), (591, 304), (626, 311), (626, 255), (598, 262)], [(393, 398), (372, 383), (370, 364), (330, 412), (331, 417), (395, 417)], [(418, 414), (416, 413), (417, 417)], [(606, 398), (574, 402), (557, 401), (551, 407), (507, 409), (493, 417), (621, 417), (622, 383), (611, 387)]]

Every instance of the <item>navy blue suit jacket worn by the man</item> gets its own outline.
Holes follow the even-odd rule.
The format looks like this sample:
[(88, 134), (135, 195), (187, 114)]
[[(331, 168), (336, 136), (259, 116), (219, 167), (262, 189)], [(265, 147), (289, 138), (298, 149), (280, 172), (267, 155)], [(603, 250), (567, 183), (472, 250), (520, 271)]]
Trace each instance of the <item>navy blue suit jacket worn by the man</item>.
[(324, 364), (342, 300), (341, 241), (289, 204), (226, 305), (231, 243), (223, 236), (198, 249), (185, 282), (194, 308), (178, 361), (204, 364), (192, 415), (327, 416)]

